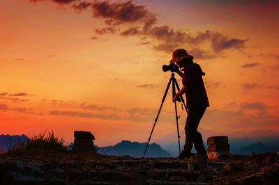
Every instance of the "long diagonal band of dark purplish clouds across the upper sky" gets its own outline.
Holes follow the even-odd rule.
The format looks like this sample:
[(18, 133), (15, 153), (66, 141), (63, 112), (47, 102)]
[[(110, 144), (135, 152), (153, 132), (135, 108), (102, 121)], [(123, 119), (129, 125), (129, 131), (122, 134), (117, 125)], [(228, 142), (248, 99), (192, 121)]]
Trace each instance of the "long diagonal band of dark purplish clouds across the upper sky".
[[(30, 0), (32, 2), (43, 0)], [(153, 46), (153, 49), (157, 51), (164, 51), (166, 53), (172, 52), (179, 47), (186, 47), (186, 45), (199, 45), (203, 42), (211, 42), (213, 51), (219, 53), (225, 49), (243, 49), (248, 39), (241, 40), (239, 38), (231, 38), (222, 33), (216, 33), (213, 31), (198, 32), (196, 35), (190, 35), (184, 31), (172, 29), (167, 25), (157, 25), (156, 14), (152, 13), (146, 6), (138, 6), (133, 1), (126, 2), (114, 2), (110, 1), (93, 1), (92, 3), (86, 1), (75, 0), (51, 0), (59, 5), (72, 3), (71, 8), (80, 12), (86, 10), (89, 7), (93, 13), (94, 18), (104, 19), (105, 24), (109, 25), (103, 29), (96, 29), (95, 32), (98, 35), (107, 33), (119, 33), (120, 28), (116, 29), (116, 26), (126, 24), (129, 26), (125, 31), (119, 33), (120, 36), (137, 36), (144, 41), (141, 41), (139, 45), (148, 45), (158, 41)], [(96, 38), (92, 38), (96, 39)], [(198, 59), (210, 59), (216, 58), (216, 55), (210, 54), (209, 51), (202, 49), (193, 49), (195, 57)]]

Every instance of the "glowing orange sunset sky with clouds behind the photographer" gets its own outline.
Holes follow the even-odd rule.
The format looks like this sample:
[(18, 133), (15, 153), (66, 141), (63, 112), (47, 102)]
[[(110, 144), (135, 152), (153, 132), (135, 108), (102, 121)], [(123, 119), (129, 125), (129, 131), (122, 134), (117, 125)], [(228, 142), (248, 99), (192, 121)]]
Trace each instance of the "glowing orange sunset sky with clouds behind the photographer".
[[(210, 107), (201, 128), (279, 130), (278, 7), (2, 0), (0, 134), (48, 129), (71, 141), (74, 130), (88, 130), (97, 145), (146, 141), (170, 77), (162, 65), (180, 47), (206, 72)], [(184, 111), (182, 133), (185, 118)], [(168, 96), (153, 138), (175, 131)]]

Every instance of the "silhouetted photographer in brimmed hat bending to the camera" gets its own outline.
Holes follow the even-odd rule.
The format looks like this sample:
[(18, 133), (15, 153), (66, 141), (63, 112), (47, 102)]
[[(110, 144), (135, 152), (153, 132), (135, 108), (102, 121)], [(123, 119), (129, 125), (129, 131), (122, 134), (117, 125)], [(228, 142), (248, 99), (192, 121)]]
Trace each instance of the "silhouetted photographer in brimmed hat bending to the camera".
[(186, 93), (186, 105), (188, 108), (188, 116), (185, 124), (186, 140), (184, 150), (182, 150), (179, 157), (190, 157), (193, 144), (197, 150), (197, 157), (207, 161), (206, 150), (202, 141), (202, 134), (197, 131), (199, 121), (202, 119), (204, 112), (209, 107), (209, 99), (204, 88), (204, 81), (202, 76), (202, 68), (193, 62), (193, 56), (190, 56), (185, 49), (176, 49), (172, 53), (172, 60), (170, 63), (176, 63), (180, 70), (176, 73), (182, 77), (183, 87), (174, 96), (174, 101), (177, 97)]

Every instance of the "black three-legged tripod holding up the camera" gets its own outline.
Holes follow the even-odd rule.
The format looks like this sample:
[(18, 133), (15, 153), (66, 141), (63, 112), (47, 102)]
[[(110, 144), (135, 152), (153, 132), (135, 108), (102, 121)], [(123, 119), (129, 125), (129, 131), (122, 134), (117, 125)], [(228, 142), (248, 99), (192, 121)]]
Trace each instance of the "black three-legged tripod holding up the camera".
[[(142, 156), (143, 158), (144, 158), (144, 156), (145, 156), (145, 154), (146, 154), (147, 147), (149, 146), (149, 142), (150, 142), (150, 140), (151, 140), (151, 136), (152, 136), (152, 134), (153, 134), (153, 131), (154, 131), (156, 122), (157, 122), (158, 117), (159, 117), (159, 115), (160, 115), (160, 111), (161, 111), (162, 106), (163, 106), (163, 104), (164, 104), (164, 102), (165, 102), (165, 97), (167, 96), (167, 91), (169, 90), (170, 83), (172, 83), (172, 97), (174, 97), (174, 96), (176, 95), (176, 88), (177, 88), (178, 91), (180, 90), (179, 84), (177, 83), (176, 78), (174, 77), (174, 72), (172, 72), (172, 77), (170, 77), (169, 83), (167, 83), (167, 88), (166, 88), (166, 90), (165, 90), (165, 94), (164, 94), (163, 99), (162, 99), (162, 104), (160, 105), (160, 108), (159, 108), (158, 114), (157, 114), (157, 116), (156, 116), (155, 122), (154, 122), (154, 124), (153, 124), (153, 128), (152, 128), (152, 130), (151, 130), (151, 133), (150, 133), (148, 142), (147, 142), (147, 144), (146, 144), (146, 147), (145, 147), (145, 150), (144, 150), (144, 155)], [(182, 96), (181, 96), (181, 97), (178, 97), (178, 98), (177, 98), (177, 101), (179, 101), (179, 102), (182, 101), (183, 106), (185, 107), (186, 112), (188, 113), (187, 107), (186, 107), (186, 104), (185, 104), (185, 102), (184, 102), (183, 97), (182, 97)], [(178, 137), (178, 139), (179, 139), (179, 138), (180, 138), (180, 135), (179, 135), (179, 117), (177, 116), (176, 101), (174, 101), (174, 108), (175, 108), (175, 118), (176, 118), (177, 137)], [(181, 154), (181, 150), (180, 150), (180, 139), (179, 139), (179, 154)]]

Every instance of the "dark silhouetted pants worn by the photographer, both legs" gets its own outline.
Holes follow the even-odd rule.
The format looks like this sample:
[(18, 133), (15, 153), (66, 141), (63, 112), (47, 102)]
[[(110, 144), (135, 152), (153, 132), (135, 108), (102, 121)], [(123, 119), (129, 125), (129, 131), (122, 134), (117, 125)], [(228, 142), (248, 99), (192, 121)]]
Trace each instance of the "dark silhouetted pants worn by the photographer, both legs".
[(188, 116), (185, 124), (186, 140), (184, 151), (188, 154), (191, 153), (193, 144), (198, 154), (206, 154), (204, 143), (202, 141), (202, 134), (197, 131), (199, 121), (202, 119), (206, 108), (189, 108)]

